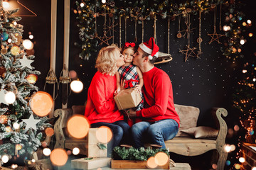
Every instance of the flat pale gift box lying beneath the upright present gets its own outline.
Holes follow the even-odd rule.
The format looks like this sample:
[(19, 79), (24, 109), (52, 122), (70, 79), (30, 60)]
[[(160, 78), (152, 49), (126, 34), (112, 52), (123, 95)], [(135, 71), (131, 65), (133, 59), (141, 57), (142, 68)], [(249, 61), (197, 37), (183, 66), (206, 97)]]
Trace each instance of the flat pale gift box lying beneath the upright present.
[(96, 169), (110, 165), (110, 157), (101, 158), (80, 158), (71, 160), (71, 168), (73, 169)]

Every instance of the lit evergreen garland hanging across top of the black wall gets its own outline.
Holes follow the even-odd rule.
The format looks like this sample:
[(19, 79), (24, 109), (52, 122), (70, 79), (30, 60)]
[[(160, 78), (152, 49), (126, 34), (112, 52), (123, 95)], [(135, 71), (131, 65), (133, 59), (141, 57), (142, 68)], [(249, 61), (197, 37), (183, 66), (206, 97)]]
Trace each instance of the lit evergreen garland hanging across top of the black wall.
[[(104, 3), (102, 3), (104, 2)], [(92, 52), (97, 51), (99, 39), (97, 39), (97, 17), (108, 16), (112, 20), (119, 23), (120, 18), (124, 17), (135, 21), (135, 23), (143, 23), (144, 20), (153, 20), (155, 16), (163, 19), (171, 18), (171, 21), (176, 19), (176, 16), (183, 13), (197, 15), (199, 11), (208, 13), (213, 11), (215, 6), (220, 5), (223, 8), (225, 25), (225, 37), (223, 37), (223, 47), (221, 50), (225, 57), (235, 60), (238, 57), (243, 57), (240, 40), (242, 40), (242, 18), (243, 13), (240, 12), (240, 4), (235, 0), (220, 1), (220, 0), (193, 0), (181, 4), (176, 4), (175, 1), (168, 0), (151, 0), (151, 1), (125, 1), (125, 0), (80, 0), (76, 1), (78, 28), (80, 42), (75, 42), (81, 48), (80, 58), (89, 60)]]

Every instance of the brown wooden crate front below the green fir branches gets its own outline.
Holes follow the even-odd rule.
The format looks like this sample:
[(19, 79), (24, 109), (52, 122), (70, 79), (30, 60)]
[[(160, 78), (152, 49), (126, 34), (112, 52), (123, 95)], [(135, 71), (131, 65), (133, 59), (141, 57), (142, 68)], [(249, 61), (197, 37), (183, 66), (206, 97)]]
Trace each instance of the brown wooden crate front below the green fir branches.
[[(169, 161), (164, 166), (157, 166), (156, 169), (169, 169)], [(147, 169), (146, 161), (111, 160), (112, 169)]]

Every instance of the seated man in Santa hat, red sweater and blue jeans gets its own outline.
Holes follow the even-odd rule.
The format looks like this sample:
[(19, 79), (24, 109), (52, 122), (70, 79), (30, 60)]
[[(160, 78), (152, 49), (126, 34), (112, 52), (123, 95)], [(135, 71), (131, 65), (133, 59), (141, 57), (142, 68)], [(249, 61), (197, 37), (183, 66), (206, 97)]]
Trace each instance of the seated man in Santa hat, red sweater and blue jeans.
[(134, 54), (133, 64), (142, 70), (144, 80), (144, 108), (127, 111), (129, 117), (143, 120), (132, 126), (134, 147), (137, 148), (144, 147), (144, 142), (165, 148), (164, 141), (171, 140), (178, 132), (179, 118), (174, 108), (171, 80), (166, 72), (154, 67), (158, 51), (154, 38), (150, 38), (142, 42)]

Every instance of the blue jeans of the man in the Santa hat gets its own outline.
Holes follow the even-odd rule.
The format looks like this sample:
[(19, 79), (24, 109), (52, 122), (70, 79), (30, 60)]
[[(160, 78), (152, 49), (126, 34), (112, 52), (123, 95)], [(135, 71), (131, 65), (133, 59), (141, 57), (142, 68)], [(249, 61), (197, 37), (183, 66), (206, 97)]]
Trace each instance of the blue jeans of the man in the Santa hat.
[(171, 140), (178, 133), (178, 123), (172, 119), (156, 122), (139, 122), (132, 126), (134, 147), (144, 147), (144, 142), (161, 145), (166, 148), (164, 141)]

